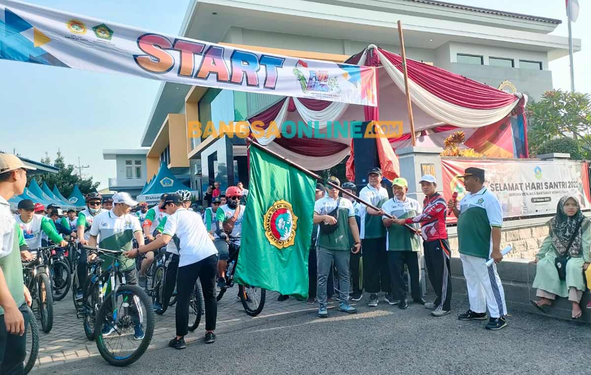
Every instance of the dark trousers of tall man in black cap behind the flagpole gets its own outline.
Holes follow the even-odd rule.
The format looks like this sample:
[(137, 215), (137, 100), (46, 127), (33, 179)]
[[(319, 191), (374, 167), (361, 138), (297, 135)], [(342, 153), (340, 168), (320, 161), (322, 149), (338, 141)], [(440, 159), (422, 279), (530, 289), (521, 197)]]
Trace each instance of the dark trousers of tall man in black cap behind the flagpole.
[(386, 237), (361, 240), (363, 280), (368, 293), (391, 292)]

